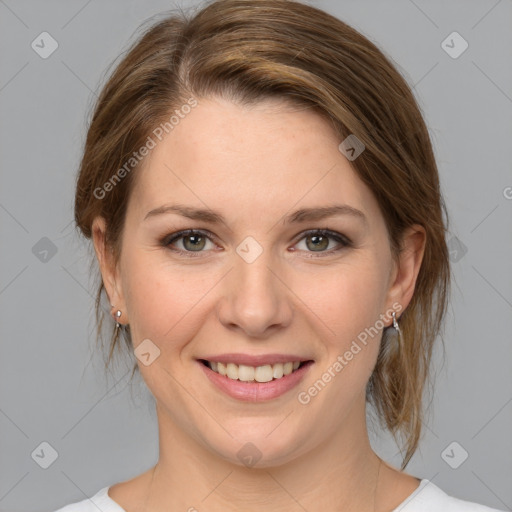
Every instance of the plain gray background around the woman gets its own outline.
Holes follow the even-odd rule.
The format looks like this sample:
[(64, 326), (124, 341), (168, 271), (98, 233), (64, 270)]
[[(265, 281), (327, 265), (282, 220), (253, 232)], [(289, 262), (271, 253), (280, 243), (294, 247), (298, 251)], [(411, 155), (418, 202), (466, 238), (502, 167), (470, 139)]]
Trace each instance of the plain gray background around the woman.
[[(446, 359), (436, 353), (432, 412), (406, 471), (511, 510), (512, 2), (310, 3), (376, 42), (414, 87), (455, 237)], [(0, 510), (50, 511), (156, 462), (149, 393), (135, 386), (132, 401), (128, 363), (106, 379), (93, 350), (92, 252), (72, 206), (105, 71), (139, 23), (176, 5), (197, 2), (0, 0)], [(43, 31), (59, 45), (46, 59), (31, 48)], [(453, 31), (469, 44), (458, 58), (441, 46)], [(399, 466), (389, 437), (371, 439)], [(452, 465), (469, 454), (458, 469), (442, 456), (454, 441)], [(43, 442), (58, 453), (47, 469)]]

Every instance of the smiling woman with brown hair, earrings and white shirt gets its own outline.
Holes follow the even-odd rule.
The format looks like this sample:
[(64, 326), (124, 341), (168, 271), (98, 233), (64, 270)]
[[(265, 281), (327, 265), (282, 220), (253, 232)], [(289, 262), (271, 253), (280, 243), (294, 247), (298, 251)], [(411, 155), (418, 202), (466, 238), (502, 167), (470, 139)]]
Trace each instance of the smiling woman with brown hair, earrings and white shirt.
[(443, 214), (409, 87), (345, 23), (285, 0), (156, 23), (98, 99), (75, 219), (160, 456), (60, 512), (490, 511), (403, 471), (447, 305)]

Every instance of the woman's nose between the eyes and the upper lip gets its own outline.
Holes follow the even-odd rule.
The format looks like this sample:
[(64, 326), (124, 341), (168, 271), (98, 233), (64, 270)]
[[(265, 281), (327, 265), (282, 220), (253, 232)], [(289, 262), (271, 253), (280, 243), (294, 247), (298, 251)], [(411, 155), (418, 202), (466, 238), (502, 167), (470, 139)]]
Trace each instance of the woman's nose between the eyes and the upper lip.
[(234, 254), (233, 268), (221, 290), (218, 318), (230, 330), (251, 338), (267, 338), (290, 324), (293, 294), (270, 250), (249, 261)]

